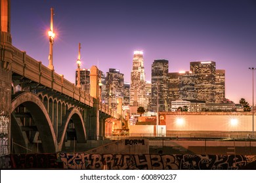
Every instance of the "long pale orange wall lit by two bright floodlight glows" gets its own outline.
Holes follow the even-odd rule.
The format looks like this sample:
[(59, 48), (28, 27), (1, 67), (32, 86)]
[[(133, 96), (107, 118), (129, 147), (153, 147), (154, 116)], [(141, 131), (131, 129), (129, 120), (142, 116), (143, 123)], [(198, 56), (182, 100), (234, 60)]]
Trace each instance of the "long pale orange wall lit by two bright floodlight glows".
[[(182, 120), (183, 119), (183, 120)], [(247, 131), (251, 132), (251, 115), (249, 114), (216, 114), (186, 113), (166, 115), (167, 131)]]

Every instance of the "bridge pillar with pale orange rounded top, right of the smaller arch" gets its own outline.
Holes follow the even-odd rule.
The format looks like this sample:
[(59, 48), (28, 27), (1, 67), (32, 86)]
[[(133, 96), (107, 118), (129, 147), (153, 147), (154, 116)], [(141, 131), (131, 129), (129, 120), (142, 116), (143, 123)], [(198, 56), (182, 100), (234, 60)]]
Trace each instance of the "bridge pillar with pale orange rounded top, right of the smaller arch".
[(99, 121), (99, 78), (100, 72), (98, 68), (93, 65), (90, 70), (90, 95), (93, 97), (93, 108), (90, 114), (89, 125), (89, 139), (98, 140), (100, 136), (100, 121)]

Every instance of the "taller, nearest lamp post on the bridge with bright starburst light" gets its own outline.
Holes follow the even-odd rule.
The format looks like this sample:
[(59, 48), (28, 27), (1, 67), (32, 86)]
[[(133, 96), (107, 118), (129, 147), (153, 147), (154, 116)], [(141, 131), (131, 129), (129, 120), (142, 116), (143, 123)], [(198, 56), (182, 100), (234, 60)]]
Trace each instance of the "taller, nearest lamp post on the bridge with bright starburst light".
[(54, 37), (55, 34), (53, 33), (53, 8), (51, 8), (51, 29), (48, 31), (48, 36), (49, 36), (49, 44), (50, 44), (50, 48), (49, 48), (49, 65), (48, 68), (51, 70), (54, 70), (53, 67), (53, 42), (54, 42)]

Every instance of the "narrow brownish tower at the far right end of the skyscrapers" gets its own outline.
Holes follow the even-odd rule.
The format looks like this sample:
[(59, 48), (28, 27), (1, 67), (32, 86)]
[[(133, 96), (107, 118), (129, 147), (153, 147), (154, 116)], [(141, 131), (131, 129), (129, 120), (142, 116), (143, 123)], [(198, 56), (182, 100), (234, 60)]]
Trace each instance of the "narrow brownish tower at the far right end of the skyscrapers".
[(216, 69), (216, 103), (223, 103), (225, 99), (225, 70)]

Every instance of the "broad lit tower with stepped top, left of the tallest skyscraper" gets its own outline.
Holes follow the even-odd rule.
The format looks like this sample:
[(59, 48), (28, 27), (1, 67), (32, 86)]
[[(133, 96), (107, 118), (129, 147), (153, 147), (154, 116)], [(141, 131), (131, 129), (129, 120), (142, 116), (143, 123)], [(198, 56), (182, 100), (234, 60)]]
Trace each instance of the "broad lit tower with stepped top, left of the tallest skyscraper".
[(119, 69), (109, 69), (106, 73), (105, 103), (110, 107), (116, 108), (118, 97), (123, 97), (123, 84), (123, 74)]

